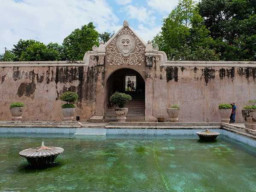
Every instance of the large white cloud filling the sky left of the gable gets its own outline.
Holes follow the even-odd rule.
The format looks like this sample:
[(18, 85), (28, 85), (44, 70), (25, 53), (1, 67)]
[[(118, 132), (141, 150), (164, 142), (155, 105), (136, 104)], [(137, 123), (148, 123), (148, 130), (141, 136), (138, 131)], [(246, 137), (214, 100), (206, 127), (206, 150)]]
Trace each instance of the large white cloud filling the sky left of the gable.
[(99, 32), (116, 31), (119, 21), (105, 0), (1, 0), (0, 13), (0, 53), (20, 38), (61, 44), (90, 21)]

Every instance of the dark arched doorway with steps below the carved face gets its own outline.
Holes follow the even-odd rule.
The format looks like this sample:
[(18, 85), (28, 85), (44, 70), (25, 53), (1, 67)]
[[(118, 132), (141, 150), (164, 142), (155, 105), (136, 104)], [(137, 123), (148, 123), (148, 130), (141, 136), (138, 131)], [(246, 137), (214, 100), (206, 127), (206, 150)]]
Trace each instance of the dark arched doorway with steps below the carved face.
[(109, 98), (116, 91), (131, 95), (132, 101), (127, 103), (127, 122), (145, 120), (145, 81), (135, 70), (122, 68), (113, 72), (105, 82), (105, 115), (103, 121), (115, 121), (116, 115)]

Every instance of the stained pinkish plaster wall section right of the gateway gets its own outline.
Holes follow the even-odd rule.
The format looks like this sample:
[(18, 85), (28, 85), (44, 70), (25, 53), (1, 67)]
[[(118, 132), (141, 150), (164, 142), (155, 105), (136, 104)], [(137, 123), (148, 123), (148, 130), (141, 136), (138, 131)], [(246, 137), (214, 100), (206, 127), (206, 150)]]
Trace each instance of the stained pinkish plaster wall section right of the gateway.
[(218, 104), (224, 102), (236, 103), (237, 122), (243, 122), (241, 109), (256, 98), (255, 64), (169, 62), (153, 66), (149, 79), (153, 81), (154, 116), (167, 119), (166, 108), (178, 104), (181, 122), (220, 122)]

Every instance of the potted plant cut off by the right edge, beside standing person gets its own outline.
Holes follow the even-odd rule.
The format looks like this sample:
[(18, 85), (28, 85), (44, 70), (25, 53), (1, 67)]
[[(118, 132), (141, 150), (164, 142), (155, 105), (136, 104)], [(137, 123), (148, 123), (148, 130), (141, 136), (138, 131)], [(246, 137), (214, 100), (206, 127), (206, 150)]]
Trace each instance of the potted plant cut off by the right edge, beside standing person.
[(249, 101), (250, 105), (244, 106), (242, 116), (245, 128), (256, 130), (256, 99)]

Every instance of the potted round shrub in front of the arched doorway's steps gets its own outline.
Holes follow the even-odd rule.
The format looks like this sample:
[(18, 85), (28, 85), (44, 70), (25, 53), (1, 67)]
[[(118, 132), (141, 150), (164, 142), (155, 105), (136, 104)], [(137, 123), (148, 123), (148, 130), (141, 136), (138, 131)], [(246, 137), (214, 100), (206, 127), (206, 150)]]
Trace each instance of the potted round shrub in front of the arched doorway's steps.
[(116, 119), (119, 122), (125, 122), (126, 115), (128, 113), (128, 108), (124, 108), (125, 103), (131, 101), (131, 96), (125, 93), (116, 92), (110, 97), (111, 103), (116, 103), (118, 108), (115, 108)]

